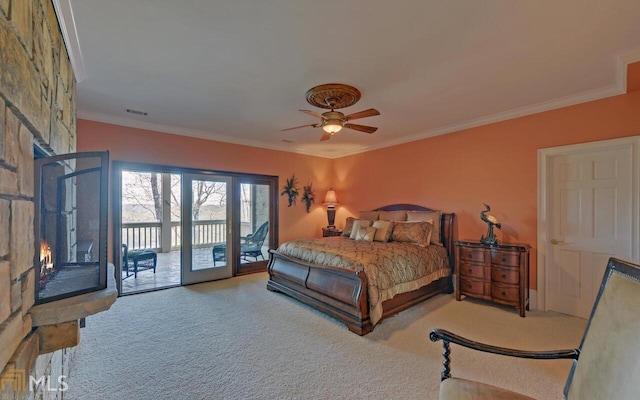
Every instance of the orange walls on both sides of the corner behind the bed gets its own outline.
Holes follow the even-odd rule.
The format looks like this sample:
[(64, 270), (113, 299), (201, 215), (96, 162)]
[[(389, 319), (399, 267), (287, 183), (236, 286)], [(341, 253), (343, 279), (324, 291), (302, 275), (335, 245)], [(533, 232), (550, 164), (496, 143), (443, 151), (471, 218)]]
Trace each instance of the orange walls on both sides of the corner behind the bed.
[[(333, 186), (339, 227), (359, 210), (414, 203), (456, 213), (456, 237), (478, 239), (488, 203), (503, 225), (500, 240), (533, 247), (536, 289), (537, 150), (640, 135), (640, 91), (335, 160), (81, 119), (77, 132), (78, 151), (108, 149), (112, 160), (277, 175), (280, 187), (295, 173), (300, 187), (313, 182), (318, 203)], [(307, 214), (280, 197), (279, 212), (281, 243), (319, 236), (327, 223), (319, 204)]]

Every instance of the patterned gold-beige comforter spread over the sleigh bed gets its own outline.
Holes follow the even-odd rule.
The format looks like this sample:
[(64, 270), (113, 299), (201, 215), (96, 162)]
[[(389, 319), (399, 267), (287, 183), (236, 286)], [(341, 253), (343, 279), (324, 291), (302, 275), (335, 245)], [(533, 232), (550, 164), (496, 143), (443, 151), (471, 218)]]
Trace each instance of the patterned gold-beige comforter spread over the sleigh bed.
[(369, 281), (369, 316), (382, 317), (382, 302), (451, 274), (447, 251), (441, 246), (365, 242), (347, 237), (297, 239), (278, 251), (303, 261), (364, 271)]

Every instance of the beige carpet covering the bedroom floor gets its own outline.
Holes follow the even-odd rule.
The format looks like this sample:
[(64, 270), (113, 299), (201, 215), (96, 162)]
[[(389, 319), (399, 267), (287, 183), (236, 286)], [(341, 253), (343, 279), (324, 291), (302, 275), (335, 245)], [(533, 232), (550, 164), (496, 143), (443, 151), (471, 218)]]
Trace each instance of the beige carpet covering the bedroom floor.
[[(87, 319), (65, 399), (437, 399), (441, 327), (532, 350), (577, 347), (583, 319), (436, 298), (365, 337), (282, 294), (266, 274), (118, 299)], [(452, 346), (452, 373), (560, 399), (570, 361)]]

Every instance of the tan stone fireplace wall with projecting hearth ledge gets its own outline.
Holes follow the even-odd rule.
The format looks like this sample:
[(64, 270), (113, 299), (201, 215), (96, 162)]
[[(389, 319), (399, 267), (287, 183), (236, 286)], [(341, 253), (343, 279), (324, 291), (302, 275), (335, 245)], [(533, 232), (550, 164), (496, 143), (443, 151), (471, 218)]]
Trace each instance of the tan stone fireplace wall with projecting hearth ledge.
[[(61, 387), (30, 378), (66, 379), (79, 320), (117, 292), (35, 305), (34, 144), (49, 156), (76, 151), (76, 80), (51, 0), (0, 0), (0, 46), (0, 398), (61, 399)], [(79, 243), (66, 244), (76, 252), (67, 261)]]

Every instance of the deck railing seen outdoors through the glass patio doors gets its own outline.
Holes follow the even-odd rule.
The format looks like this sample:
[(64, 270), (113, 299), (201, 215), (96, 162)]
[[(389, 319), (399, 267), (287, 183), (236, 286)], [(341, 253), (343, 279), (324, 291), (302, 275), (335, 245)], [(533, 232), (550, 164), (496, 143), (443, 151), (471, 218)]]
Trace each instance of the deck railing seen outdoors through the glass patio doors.
[[(171, 222), (171, 250), (180, 249), (182, 235), (180, 221)], [(241, 234), (250, 233), (250, 224), (242, 222)], [(209, 247), (214, 243), (227, 241), (227, 223), (223, 219), (194, 221), (192, 243), (194, 248)], [(122, 224), (122, 243), (129, 249), (152, 249), (160, 251), (162, 248), (161, 222), (127, 222)]]

